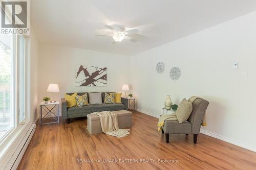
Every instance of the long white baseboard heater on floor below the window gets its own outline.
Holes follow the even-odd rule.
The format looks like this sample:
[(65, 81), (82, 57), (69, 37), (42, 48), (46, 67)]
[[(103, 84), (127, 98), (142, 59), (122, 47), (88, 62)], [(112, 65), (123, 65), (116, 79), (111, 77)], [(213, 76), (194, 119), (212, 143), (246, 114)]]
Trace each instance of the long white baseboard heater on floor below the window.
[(23, 137), (22, 141), (19, 143), (15, 153), (12, 155), (11, 159), (9, 160), (5, 169), (13, 169), (15, 170), (18, 167), (20, 160), (22, 159), (28, 144), (35, 132), (36, 125), (32, 124), (29, 130), (27, 131), (26, 135)]

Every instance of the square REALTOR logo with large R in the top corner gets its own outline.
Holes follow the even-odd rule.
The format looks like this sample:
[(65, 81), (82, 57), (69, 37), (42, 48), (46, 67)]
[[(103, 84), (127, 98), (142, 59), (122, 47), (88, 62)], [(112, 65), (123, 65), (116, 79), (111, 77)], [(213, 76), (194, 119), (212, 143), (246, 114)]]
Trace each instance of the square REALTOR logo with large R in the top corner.
[(29, 35), (28, 0), (2, 0), (1, 13), (1, 34)]

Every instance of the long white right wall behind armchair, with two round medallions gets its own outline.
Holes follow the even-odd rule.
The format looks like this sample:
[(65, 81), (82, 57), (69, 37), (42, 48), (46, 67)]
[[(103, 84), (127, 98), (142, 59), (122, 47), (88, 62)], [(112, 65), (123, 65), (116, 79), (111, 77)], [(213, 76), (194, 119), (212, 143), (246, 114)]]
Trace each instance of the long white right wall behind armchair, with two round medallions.
[[(209, 101), (204, 133), (256, 151), (256, 12), (131, 57), (137, 109), (159, 116), (166, 94), (174, 104), (191, 95)], [(165, 70), (157, 74), (156, 64)], [(231, 69), (234, 61), (239, 69)], [(169, 70), (179, 66), (173, 81)], [(245, 72), (247, 78), (242, 78)]]

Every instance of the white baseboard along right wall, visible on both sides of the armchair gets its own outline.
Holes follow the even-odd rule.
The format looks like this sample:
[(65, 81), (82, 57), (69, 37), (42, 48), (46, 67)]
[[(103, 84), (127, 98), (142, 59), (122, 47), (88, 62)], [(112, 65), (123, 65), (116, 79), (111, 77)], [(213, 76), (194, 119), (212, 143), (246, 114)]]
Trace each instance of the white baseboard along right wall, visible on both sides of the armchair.
[[(156, 118), (159, 118), (159, 117), (160, 117), (160, 115), (152, 114), (152, 113), (150, 113), (150, 112), (147, 112), (147, 111), (144, 111), (144, 110), (141, 110), (141, 109), (137, 109), (137, 108), (136, 108), (135, 110), (138, 111), (138, 112), (141, 112), (141, 113), (144, 113), (144, 114), (147, 114), (147, 115), (156, 117)], [(218, 134), (215, 134), (215, 133), (212, 133), (212, 132), (208, 132), (208, 131), (202, 130), (202, 129), (200, 130), (200, 133), (205, 134), (205, 135), (207, 135), (207, 136), (211, 136), (211, 137), (220, 139), (220, 140), (223, 140), (223, 141), (226, 141), (226, 142), (228, 142), (228, 143), (237, 145), (237, 146), (242, 147), (242, 148), (245, 148), (245, 149), (247, 149), (247, 150), (256, 152), (256, 148), (253, 147), (253, 146), (251, 146), (251, 145), (244, 144), (244, 143), (238, 142), (238, 141), (236, 141), (236, 140), (232, 140), (232, 139), (226, 138), (226, 137), (224, 137), (224, 136), (221, 136), (221, 135), (218, 135)]]

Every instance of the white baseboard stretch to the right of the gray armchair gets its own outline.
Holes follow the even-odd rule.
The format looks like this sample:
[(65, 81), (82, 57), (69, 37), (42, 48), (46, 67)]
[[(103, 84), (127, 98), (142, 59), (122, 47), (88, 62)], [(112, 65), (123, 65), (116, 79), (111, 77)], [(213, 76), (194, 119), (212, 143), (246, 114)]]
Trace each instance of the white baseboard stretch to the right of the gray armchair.
[(242, 148), (245, 148), (247, 150), (251, 150), (253, 152), (256, 152), (256, 148), (251, 146), (251, 145), (248, 145), (248, 144), (244, 144), (244, 143), (241, 143), (241, 142), (238, 142), (238, 141), (235, 141), (235, 140), (232, 140), (232, 139), (229, 139), (229, 138), (226, 138), (224, 136), (221, 136), (221, 135), (218, 135), (218, 134), (215, 134), (215, 133), (212, 133), (212, 132), (208, 132), (206, 130), (200, 130), (200, 133), (202, 134), (205, 134), (207, 136), (211, 136), (211, 137), (214, 137), (214, 138), (217, 138), (217, 139), (220, 139), (220, 140), (223, 140), (223, 141), (226, 141), (228, 143), (231, 143), (231, 144), (234, 144), (234, 145), (237, 145), (239, 147), (242, 147)]

